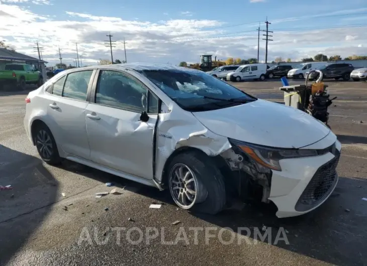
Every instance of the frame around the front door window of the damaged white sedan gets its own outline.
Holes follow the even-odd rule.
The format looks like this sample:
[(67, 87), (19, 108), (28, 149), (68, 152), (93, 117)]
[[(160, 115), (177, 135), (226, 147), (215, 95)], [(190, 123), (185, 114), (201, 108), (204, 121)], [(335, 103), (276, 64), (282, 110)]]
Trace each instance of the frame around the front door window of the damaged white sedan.
[[(112, 69), (112, 68), (98, 68), (98, 69), (96, 69), (95, 77), (94, 77), (93, 84), (92, 84), (92, 87), (91, 87), (91, 90), (90, 90), (90, 96), (89, 96), (89, 102), (90, 103), (101, 105), (101, 106), (106, 106), (106, 107), (110, 107), (110, 108), (120, 109), (120, 110), (124, 110), (124, 111), (134, 112), (134, 113), (141, 113), (141, 112), (137, 112), (135, 110), (131, 110), (129, 108), (111, 106), (111, 105), (108, 105), (108, 104), (102, 104), (102, 103), (97, 103), (96, 102), (97, 85), (98, 85), (98, 81), (100, 80), (100, 76), (101, 76), (102, 71), (119, 72), (121, 74), (126, 75), (128, 78), (131, 78), (132, 80), (136, 81), (140, 85), (142, 85), (147, 90), (147, 95), (146, 95), (147, 104), (145, 106), (144, 111), (146, 111), (148, 114), (157, 114), (158, 115), (160, 113), (160, 107), (159, 106), (160, 106), (161, 99), (154, 92), (152, 92), (152, 90), (147, 85), (145, 85), (142, 81), (140, 81), (138, 78), (136, 78), (133, 75), (131, 75), (130, 73), (127, 73), (127, 72), (125, 72), (123, 70), (120, 70), (120, 69)], [(149, 94), (152, 94), (153, 97), (155, 97), (157, 99), (157, 113), (148, 112), (149, 98), (150, 98)]]

